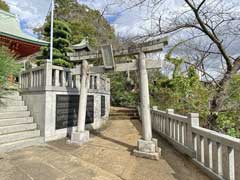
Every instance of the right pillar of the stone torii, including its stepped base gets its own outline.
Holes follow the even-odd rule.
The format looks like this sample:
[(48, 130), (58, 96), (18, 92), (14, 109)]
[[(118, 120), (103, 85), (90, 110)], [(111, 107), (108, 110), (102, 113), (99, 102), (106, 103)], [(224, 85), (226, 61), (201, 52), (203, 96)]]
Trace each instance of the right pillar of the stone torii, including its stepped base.
[(158, 160), (160, 148), (156, 139), (152, 138), (150, 100), (148, 87), (148, 73), (146, 69), (145, 54), (139, 54), (139, 76), (140, 76), (140, 113), (142, 120), (142, 139), (138, 140), (138, 149), (134, 150), (134, 155), (149, 159)]

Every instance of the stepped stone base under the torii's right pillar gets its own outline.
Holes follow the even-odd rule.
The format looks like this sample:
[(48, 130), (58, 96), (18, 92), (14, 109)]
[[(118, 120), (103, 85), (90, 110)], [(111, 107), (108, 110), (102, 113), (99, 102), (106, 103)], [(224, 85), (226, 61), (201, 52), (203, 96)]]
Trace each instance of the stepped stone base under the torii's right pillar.
[(157, 139), (152, 139), (151, 141), (139, 139), (138, 149), (135, 149), (133, 154), (137, 157), (159, 160), (161, 149), (158, 147)]

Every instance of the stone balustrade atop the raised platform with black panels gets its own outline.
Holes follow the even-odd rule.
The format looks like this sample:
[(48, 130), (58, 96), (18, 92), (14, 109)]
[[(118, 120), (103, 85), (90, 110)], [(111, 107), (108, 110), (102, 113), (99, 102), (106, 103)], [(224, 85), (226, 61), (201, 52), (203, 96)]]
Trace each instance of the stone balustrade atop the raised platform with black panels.
[[(53, 90), (79, 90), (81, 77), (78, 70), (54, 66), (49, 63), (23, 71), (19, 82), (22, 91)], [(110, 91), (110, 80), (100, 74), (90, 74), (89, 90)]]

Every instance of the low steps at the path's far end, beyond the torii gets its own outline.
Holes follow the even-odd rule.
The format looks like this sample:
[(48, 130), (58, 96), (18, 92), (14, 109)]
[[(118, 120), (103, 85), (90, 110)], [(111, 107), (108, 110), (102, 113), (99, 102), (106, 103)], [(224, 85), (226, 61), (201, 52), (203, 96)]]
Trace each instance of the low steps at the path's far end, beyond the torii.
[(111, 107), (110, 120), (139, 120), (136, 108)]

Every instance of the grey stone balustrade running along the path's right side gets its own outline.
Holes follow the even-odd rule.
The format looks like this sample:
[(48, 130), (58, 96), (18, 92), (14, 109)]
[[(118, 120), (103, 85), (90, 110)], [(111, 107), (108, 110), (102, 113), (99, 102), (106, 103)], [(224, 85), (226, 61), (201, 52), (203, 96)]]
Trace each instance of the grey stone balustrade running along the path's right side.
[(199, 127), (197, 113), (182, 116), (173, 109), (151, 110), (152, 129), (213, 179), (240, 179), (240, 140)]

